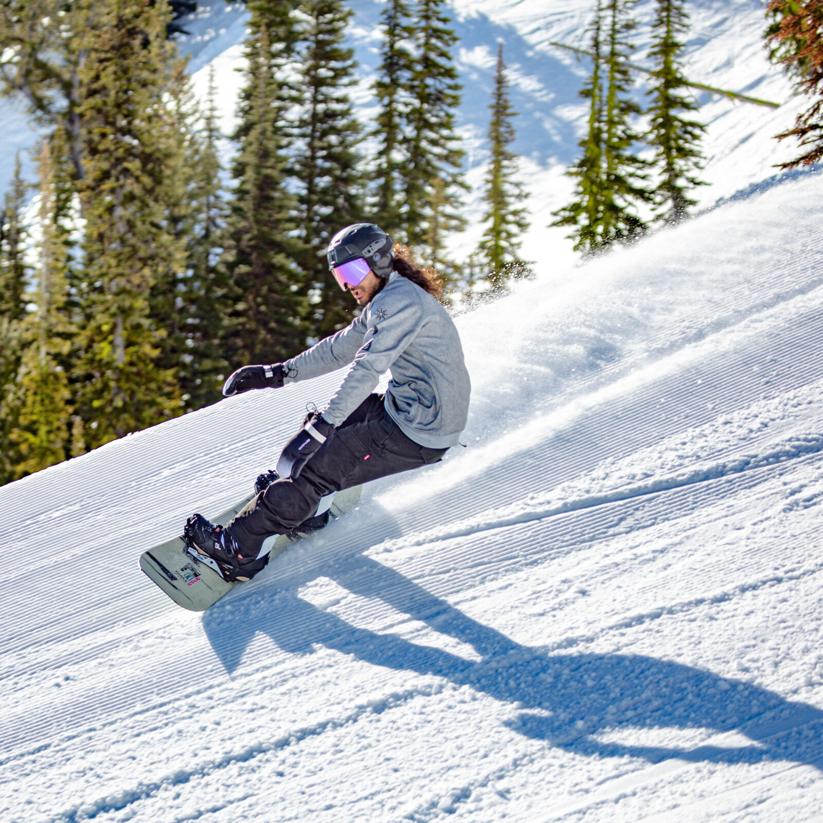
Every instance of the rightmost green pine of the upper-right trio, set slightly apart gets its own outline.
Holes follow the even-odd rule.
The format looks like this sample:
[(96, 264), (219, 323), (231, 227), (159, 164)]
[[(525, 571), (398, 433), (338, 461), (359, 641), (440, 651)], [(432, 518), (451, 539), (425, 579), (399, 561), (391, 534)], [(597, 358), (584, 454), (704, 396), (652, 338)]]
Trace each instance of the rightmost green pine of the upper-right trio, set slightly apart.
[(704, 126), (696, 120), (687, 120), (678, 112), (696, 111), (690, 95), (682, 94), (686, 77), (681, 72), (680, 56), (683, 44), (678, 35), (688, 30), (689, 16), (683, 0), (658, 0), (658, 11), (653, 23), (655, 33), (649, 56), (656, 63), (652, 77), (654, 86), (649, 91), (651, 123), (647, 139), (654, 146), (655, 164), (661, 181), (657, 189), (658, 220), (679, 223), (696, 200), (686, 191), (704, 185), (695, 176), (700, 169), (700, 141)]

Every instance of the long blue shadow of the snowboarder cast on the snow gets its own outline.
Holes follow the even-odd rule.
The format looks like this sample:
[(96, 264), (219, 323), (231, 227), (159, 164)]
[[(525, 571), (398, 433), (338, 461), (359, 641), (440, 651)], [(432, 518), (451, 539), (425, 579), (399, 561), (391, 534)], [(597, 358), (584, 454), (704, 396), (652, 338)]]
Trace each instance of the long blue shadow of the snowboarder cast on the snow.
[[(380, 539), (385, 539), (391, 521), (369, 519), (380, 523)], [(370, 532), (356, 531), (361, 538)], [(368, 538), (360, 546), (363, 542), (374, 545)], [(793, 760), (823, 770), (821, 709), (681, 663), (642, 655), (546, 653), (523, 646), (355, 546), (341, 542), (337, 550), (313, 569), (301, 568), (291, 579), (256, 587), (256, 596), (249, 597), (249, 591), (246, 597), (231, 597), (225, 606), (217, 604), (205, 613), (203, 627), (228, 672), (239, 666), (260, 631), (289, 653), (312, 653), (319, 644), (375, 666), (469, 686), (514, 704), (518, 715), (508, 725), (515, 732), (579, 755), (635, 756), (651, 762), (670, 757), (726, 763)], [(471, 645), (481, 660), (362, 629), (314, 606), (298, 590), (321, 576), (353, 594), (379, 598), (413, 620)], [(639, 734), (639, 728), (646, 731)], [(735, 736), (697, 747), (657, 746), (656, 728), (740, 732), (751, 743), (741, 745)], [(635, 742), (621, 743), (619, 738), (629, 730)], [(638, 737), (648, 737), (648, 745), (638, 745)]]

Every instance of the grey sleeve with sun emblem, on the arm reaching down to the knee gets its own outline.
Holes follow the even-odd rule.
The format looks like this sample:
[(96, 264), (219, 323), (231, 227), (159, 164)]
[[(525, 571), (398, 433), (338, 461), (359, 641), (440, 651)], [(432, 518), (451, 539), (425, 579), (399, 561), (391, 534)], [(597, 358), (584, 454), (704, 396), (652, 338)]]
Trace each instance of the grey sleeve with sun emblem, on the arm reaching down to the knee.
[(380, 292), (370, 305), (363, 345), (322, 412), (329, 423), (341, 425), (416, 337), (422, 319), (420, 300), (408, 292), (399, 300), (398, 296)]

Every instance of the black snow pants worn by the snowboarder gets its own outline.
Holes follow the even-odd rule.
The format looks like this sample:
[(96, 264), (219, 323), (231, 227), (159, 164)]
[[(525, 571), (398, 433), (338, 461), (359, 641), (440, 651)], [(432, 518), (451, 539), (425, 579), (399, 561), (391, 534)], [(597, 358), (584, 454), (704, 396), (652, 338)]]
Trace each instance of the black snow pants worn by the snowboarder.
[(366, 398), (305, 464), (300, 477), (274, 481), (228, 524), (244, 555), (257, 555), (269, 535), (291, 532), (332, 491), (443, 458), (449, 449), (416, 444), (388, 416), (383, 399), (382, 394)]

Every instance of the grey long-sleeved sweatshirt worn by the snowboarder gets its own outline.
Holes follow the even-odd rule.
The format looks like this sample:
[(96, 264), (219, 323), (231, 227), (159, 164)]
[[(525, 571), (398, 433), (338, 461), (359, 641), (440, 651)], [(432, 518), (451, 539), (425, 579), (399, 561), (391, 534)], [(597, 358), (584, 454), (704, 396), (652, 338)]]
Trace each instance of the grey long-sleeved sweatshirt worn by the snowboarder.
[(447, 449), (466, 427), (472, 387), (449, 313), (411, 280), (392, 272), (362, 314), (332, 337), (286, 360), (286, 383), (348, 366), (322, 410), (341, 425), (391, 369), (386, 411), (421, 446)]

